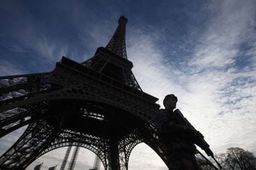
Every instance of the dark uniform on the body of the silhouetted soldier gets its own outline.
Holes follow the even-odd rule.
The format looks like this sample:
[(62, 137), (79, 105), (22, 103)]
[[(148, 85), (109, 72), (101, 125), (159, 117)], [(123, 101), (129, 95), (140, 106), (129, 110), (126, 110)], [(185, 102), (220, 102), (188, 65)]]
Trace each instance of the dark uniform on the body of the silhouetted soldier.
[(170, 169), (199, 169), (195, 161), (196, 148), (188, 142), (187, 127), (179, 124), (173, 110), (160, 109), (156, 115), (159, 140), (167, 148)]

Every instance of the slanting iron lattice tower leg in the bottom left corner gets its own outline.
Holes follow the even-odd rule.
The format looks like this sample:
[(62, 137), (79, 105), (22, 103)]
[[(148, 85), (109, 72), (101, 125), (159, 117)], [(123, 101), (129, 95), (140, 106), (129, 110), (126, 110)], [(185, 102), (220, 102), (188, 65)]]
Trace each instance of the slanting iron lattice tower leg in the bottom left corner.
[(46, 120), (30, 124), (22, 136), (0, 157), (0, 169), (25, 169), (44, 150), (56, 134)]

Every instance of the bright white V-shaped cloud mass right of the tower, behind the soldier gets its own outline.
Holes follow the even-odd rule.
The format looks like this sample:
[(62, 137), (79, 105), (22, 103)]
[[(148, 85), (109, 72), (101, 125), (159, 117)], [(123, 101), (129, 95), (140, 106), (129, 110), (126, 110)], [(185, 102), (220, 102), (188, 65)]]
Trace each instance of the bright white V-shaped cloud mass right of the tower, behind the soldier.
[[(252, 142), (256, 133), (255, 40), (248, 36), (255, 34), (255, 3), (212, 3), (209, 7), (215, 15), (198, 35), (187, 67), (168, 66), (156, 38), (145, 32), (133, 33), (129, 59), (142, 89), (159, 97), (160, 104), (166, 94), (178, 96), (178, 107), (205, 134), (214, 152), (237, 146), (256, 153), (255, 140)], [(244, 56), (250, 61), (245, 67), (237, 57), (245, 51), (241, 44), (247, 41), (252, 44)]]

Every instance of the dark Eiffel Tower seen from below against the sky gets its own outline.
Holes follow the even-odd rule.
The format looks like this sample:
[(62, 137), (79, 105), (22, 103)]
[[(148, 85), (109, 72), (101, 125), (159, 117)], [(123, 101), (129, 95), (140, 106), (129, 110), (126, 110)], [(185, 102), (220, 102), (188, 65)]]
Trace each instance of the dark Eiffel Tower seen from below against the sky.
[(28, 125), (0, 157), (0, 169), (25, 169), (51, 150), (83, 147), (105, 169), (128, 169), (141, 142), (168, 164), (154, 118), (158, 100), (142, 91), (126, 54), (127, 18), (106, 47), (77, 63), (62, 57), (48, 73), (0, 77), (0, 137)]

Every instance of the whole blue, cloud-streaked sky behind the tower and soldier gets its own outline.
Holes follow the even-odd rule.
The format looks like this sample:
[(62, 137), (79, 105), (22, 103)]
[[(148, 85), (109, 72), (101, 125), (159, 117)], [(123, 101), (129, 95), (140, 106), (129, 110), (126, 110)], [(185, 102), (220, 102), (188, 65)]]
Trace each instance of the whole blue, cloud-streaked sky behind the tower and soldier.
[[(127, 56), (143, 91), (160, 105), (176, 94), (213, 152), (242, 147), (256, 154), (255, 9), (253, 0), (1, 1), (0, 75), (51, 71), (62, 55), (83, 62), (108, 44), (125, 15)], [(0, 140), (1, 153), (19, 134)], [(54, 155), (64, 152), (36, 163), (59, 164)], [(93, 163), (90, 154), (82, 150), (80, 166)], [(167, 169), (154, 154), (138, 145), (129, 169)]]

